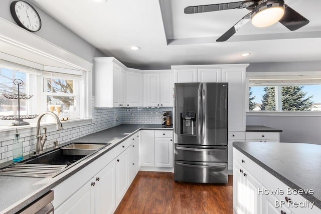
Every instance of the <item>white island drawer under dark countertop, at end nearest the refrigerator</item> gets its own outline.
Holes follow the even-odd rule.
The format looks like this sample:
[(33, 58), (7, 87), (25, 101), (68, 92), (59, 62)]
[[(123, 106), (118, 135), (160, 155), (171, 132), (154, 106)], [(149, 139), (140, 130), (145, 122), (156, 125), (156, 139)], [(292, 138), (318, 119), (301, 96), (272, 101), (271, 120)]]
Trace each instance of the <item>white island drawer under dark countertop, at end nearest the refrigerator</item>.
[(246, 169), (249, 173), (251, 173), (259, 182), (262, 181), (262, 167), (236, 148), (233, 148), (233, 159), (242, 167), (244, 167), (244, 169)]

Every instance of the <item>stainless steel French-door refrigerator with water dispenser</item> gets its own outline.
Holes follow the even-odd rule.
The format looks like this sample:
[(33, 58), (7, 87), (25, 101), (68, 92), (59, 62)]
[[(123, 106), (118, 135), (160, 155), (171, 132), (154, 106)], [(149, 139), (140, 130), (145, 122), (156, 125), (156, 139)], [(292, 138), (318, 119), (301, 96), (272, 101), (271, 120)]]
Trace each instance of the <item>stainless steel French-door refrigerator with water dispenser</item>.
[(227, 183), (228, 83), (175, 83), (176, 181)]

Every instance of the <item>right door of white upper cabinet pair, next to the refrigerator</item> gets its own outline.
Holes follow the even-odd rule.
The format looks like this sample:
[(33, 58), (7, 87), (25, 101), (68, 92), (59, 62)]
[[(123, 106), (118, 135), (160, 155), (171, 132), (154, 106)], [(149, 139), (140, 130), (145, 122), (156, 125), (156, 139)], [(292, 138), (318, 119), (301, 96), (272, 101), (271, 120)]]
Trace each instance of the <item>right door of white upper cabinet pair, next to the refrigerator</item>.
[(160, 74), (161, 79), (161, 106), (174, 106), (174, 80), (173, 73)]

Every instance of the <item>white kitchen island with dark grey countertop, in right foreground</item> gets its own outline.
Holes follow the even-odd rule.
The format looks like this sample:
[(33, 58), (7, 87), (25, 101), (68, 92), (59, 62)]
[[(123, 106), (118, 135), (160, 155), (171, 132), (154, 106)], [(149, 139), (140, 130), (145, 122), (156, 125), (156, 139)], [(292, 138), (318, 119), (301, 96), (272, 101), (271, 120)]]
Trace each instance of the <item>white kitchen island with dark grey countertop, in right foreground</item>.
[[(252, 198), (256, 202), (252, 207), (254, 213), (275, 210), (279, 211), (275, 213), (281, 210), (286, 213), (321, 213), (321, 145), (234, 142), (233, 147), (233, 207), (236, 212), (244, 211), (239, 204), (242, 192), (238, 187), (245, 183), (255, 191)], [(297, 193), (299, 189), (302, 191)], [(279, 202), (285, 202), (283, 207), (277, 207)], [(293, 207), (294, 202), (298, 202), (298, 207)]]

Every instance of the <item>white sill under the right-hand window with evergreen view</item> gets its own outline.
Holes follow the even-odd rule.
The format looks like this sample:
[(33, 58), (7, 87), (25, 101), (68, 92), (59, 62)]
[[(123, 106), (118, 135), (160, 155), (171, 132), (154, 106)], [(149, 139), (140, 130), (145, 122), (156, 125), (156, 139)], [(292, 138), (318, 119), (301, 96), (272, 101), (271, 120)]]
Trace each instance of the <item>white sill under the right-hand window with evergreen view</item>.
[(302, 116), (316, 117), (321, 116), (320, 111), (247, 111), (246, 116)]

